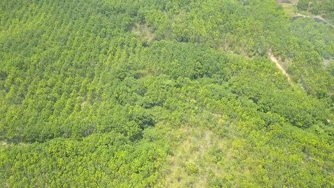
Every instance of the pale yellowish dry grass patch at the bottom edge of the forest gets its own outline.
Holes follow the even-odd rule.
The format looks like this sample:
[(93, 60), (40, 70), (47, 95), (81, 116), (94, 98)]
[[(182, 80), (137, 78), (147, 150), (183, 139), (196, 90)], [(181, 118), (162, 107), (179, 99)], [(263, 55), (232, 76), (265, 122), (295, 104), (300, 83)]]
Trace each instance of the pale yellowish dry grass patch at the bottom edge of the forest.
[(208, 179), (222, 174), (222, 168), (215, 163), (212, 151), (214, 148), (226, 151), (227, 140), (205, 128), (184, 126), (179, 131), (184, 136), (173, 155), (167, 159), (169, 169), (165, 187), (209, 187)]

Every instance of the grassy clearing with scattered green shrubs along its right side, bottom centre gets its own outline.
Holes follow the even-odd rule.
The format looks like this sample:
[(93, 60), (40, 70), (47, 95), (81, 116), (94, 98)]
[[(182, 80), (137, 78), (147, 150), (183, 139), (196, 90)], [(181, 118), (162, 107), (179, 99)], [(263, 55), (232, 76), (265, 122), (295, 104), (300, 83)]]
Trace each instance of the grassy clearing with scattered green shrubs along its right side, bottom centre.
[(226, 130), (221, 130), (222, 133), (226, 132), (224, 136), (219, 136), (207, 126), (196, 123), (177, 128), (176, 133), (181, 136), (172, 155), (167, 158), (166, 169), (162, 172), (162, 187), (209, 188), (214, 187), (216, 181), (237, 174), (234, 173), (234, 165), (237, 163), (238, 154), (232, 145), (239, 140), (235, 136), (234, 124), (230, 124), (220, 114), (211, 115), (217, 118), (217, 124), (229, 125)]

